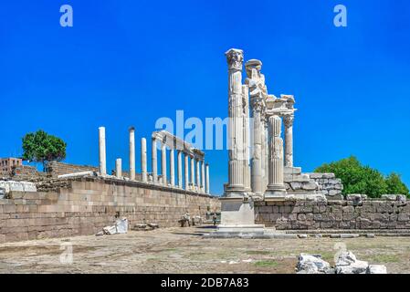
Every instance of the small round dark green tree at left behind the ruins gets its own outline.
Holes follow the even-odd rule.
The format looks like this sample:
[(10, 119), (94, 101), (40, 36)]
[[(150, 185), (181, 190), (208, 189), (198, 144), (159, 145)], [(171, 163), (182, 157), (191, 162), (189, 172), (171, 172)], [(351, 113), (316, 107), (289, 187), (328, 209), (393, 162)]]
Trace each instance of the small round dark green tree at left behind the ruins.
[(44, 170), (47, 162), (64, 160), (66, 148), (67, 144), (64, 141), (48, 135), (44, 130), (37, 130), (23, 137), (23, 159), (29, 162), (41, 162)]

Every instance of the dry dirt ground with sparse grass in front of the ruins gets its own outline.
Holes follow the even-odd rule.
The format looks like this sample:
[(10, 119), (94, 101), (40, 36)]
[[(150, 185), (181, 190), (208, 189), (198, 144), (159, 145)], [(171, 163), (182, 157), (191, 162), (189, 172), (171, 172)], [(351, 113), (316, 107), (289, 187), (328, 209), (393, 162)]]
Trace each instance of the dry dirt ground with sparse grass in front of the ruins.
[[(333, 264), (346, 247), (358, 259), (410, 273), (410, 237), (204, 239), (202, 227), (132, 231), (0, 245), (0, 273), (294, 273), (300, 253)], [(72, 253), (71, 253), (72, 251)]]

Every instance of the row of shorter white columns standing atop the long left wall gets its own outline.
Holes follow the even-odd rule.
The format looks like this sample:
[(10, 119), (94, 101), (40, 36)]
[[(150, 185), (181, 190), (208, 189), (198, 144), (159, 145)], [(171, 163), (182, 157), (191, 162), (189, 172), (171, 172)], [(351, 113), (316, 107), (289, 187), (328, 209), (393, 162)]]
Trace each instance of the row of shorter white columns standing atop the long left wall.
[[(158, 175), (158, 161), (157, 161), (157, 139), (152, 139), (152, 183), (160, 183)], [(99, 149), (100, 149), (100, 175), (107, 175), (107, 161), (106, 161), (106, 138), (105, 128), (99, 128)], [(161, 169), (162, 169), (162, 184), (168, 185), (167, 177), (167, 146), (161, 142)], [(175, 151), (169, 150), (169, 167), (170, 177), (169, 184), (172, 187), (178, 187), (195, 191), (198, 193), (210, 193), (209, 189), (209, 165), (203, 159), (196, 158), (184, 151), (176, 150), (176, 180), (175, 183)], [(184, 176), (183, 176), (183, 154), (184, 154)], [(189, 160), (191, 162), (189, 163)], [(191, 176), (189, 176), (189, 169), (191, 168)], [(148, 183), (147, 170), (147, 141), (145, 138), (141, 140), (141, 174), (142, 182)], [(121, 158), (115, 161), (115, 175), (117, 178), (122, 178), (122, 160)], [(184, 181), (183, 181), (184, 178)], [(130, 128), (130, 180), (135, 180), (135, 129)]]

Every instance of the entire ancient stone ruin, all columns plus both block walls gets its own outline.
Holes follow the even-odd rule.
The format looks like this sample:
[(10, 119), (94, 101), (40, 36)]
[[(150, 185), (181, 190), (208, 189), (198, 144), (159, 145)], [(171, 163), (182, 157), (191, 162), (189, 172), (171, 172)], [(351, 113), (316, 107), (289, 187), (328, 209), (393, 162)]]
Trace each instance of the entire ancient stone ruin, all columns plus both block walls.
[(295, 98), (268, 91), (259, 60), (245, 63), (243, 80), (242, 50), (228, 50), (226, 59), (229, 165), (223, 197), (211, 194), (204, 151), (164, 130), (152, 132), (151, 151), (142, 138), (136, 157), (131, 127), (130, 164), (124, 170), (118, 158), (109, 172), (106, 130), (100, 127), (98, 167), (50, 162), (47, 172), (26, 165), (0, 172), (0, 243), (94, 235), (120, 217), (137, 229), (178, 226), (184, 214), (206, 218), (219, 211), (221, 224), (210, 237), (409, 234), (405, 196), (343, 196), (342, 182), (333, 173), (305, 173), (295, 166)]

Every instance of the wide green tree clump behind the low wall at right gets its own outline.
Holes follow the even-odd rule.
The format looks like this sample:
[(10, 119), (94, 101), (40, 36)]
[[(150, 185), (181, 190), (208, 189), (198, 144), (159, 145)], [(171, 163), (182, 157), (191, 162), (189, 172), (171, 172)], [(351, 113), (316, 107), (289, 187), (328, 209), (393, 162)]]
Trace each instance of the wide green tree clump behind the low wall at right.
[(387, 177), (369, 167), (363, 166), (356, 157), (342, 159), (339, 162), (325, 163), (315, 172), (333, 172), (343, 183), (343, 194), (364, 193), (378, 198), (385, 193), (400, 193), (408, 195), (405, 183), (395, 173)]

